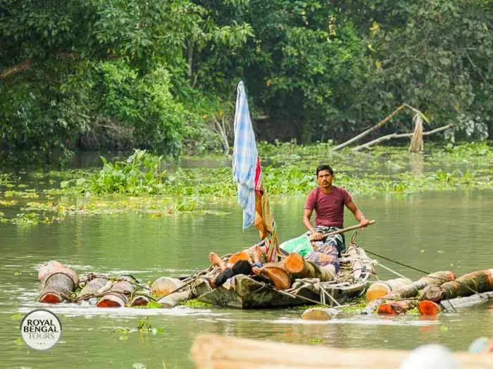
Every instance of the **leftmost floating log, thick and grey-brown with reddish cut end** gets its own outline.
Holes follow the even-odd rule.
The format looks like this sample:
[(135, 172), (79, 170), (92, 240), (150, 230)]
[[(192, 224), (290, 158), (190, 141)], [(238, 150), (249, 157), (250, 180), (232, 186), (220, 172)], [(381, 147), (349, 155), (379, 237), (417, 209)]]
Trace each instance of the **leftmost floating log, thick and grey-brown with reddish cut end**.
[(79, 275), (58, 261), (50, 261), (39, 270), (38, 277), (42, 281), (42, 292), (39, 302), (58, 304), (70, 299), (70, 294), (79, 285)]

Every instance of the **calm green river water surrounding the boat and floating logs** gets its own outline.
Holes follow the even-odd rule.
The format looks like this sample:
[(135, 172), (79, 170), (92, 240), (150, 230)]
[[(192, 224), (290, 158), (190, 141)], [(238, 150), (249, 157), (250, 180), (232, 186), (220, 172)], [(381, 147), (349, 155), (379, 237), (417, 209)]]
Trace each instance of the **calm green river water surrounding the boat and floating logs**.
[[(377, 220), (358, 234), (358, 243), (370, 251), (428, 271), (461, 275), (493, 268), (491, 191), (367, 196), (355, 202), (367, 218)], [(304, 231), (303, 205), (304, 199), (273, 200), (281, 240)], [(208, 265), (208, 251), (226, 254), (258, 240), (256, 230), (242, 232), (236, 204), (218, 209), (228, 215), (77, 215), (52, 225), (0, 224), (0, 367), (132, 368), (142, 363), (163, 368), (165, 363), (166, 368), (191, 368), (189, 349), (201, 332), (339, 347), (412, 349), (441, 342), (454, 350), (467, 349), (481, 335), (493, 335), (493, 304), (432, 320), (354, 316), (324, 323), (303, 321), (294, 309), (142, 310), (61, 304), (49, 306), (63, 325), (61, 341), (53, 349), (34, 351), (18, 342), (20, 320), (12, 315), (46, 307), (36, 302), (37, 268), (43, 261), (56, 259), (80, 274), (131, 273), (144, 281), (188, 274)], [(345, 224), (354, 223), (347, 213)], [(420, 277), (384, 264), (413, 279)], [(392, 277), (382, 268), (377, 271), (381, 278)], [(114, 332), (117, 327), (135, 328), (146, 316), (153, 327), (165, 327), (164, 333)]]

